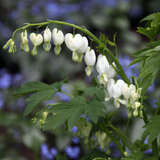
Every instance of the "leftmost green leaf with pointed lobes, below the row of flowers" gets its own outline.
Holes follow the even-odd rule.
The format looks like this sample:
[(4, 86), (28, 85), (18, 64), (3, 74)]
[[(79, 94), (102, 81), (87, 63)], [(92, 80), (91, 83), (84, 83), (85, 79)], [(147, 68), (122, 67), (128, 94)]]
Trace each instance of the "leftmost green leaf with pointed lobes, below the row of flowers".
[(62, 82), (48, 85), (42, 82), (28, 82), (22, 85), (14, 93), (15, 96), (29, 96), (27, 98), (27, 106), (24, 115), (31, 113), (40, 103), (51, 99), (54, 94), (60, 89)]

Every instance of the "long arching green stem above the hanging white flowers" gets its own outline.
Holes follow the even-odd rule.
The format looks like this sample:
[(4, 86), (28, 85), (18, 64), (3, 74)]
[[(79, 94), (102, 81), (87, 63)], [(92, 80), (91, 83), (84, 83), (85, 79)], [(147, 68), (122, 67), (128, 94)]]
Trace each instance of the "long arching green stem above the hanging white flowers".
[[(34, 24), (26, 24), (25, 26), (23, 27), (20, 27), (20, 28), (17, 28), (13, 34), (12, 34), (12, 39), (14, 40), (15, 38), (15, 34), (18, 32), (18, 31), (21, 31), (21, 30), (25, 30), (29, 27), (41, 27), (41, 26), (45, 26), (45, 25), (49, 25), (49, 24), (61, 24), (61, 25), (66, 25), (66, 26), (70, 26), (70, 27), (73, 27), (73, 28), (76, 28), (80, 31), (82, 31), (83, 33), (85, 33), (86, 35), (88, 35), (94, 42), (96, 42), (98, 45), (103, 45), (104, 47), (104, 51), (106, 53), (106, 58), (108, 59), (108, 55), (109, 57), (112, 59), (113, 62), (115, 62), (116, 66), (118, 69), (116, 69), (116, 72), (117, 74), (119, 74), (122, 79), (127, 83), (127, 84), (130, 84), (130, 81), (128, 79), (128, 77), (126, 76), (122, 66), (120, 65), (118, 59), (112, 54), (112, 52), (106, 47), (106, 44), (104, 44), (103, 42), (101, 42), (94, 34), (92, 34), (88, 29), (84, 28), (84, 27), (80, 27), (80, 26), (77, 26), (75, 24), (71, 24), (71, 23), (68, 23), (68, 22), (64, 22), (64, 21), (58, 21), (58, 20), (48, 20), (47, 22), (42, 22), (42, 23), (34, 23)], [(109, 61), (110, 62), (110, 61)], [(110, 62), (111, 64), (111, 62)], [(111, 64), (112, 65), (112, 64)]]

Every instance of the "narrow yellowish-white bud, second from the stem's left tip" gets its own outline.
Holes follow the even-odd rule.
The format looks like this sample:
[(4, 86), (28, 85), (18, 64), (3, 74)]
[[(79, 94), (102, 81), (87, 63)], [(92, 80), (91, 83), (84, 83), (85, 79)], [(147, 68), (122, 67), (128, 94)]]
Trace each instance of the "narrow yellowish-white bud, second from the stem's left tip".
[(28, 37), (26, 30), (21, 33), (21, 49), (25, 52), (29, 52)]

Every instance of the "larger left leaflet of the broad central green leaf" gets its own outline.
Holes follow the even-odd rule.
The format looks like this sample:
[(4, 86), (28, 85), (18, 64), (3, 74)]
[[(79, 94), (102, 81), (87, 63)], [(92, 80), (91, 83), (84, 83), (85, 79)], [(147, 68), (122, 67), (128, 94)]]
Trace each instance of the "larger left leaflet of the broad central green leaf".
[(68, 127), (71, 129), (84, 113), (84, 109), (85, 99), (80, 96), (73, 98), (70, 102), (57, 104), (49, 110), (54, 115), (47, 119), (44, 129), (56, 129), (65, 121), (68, 121)]

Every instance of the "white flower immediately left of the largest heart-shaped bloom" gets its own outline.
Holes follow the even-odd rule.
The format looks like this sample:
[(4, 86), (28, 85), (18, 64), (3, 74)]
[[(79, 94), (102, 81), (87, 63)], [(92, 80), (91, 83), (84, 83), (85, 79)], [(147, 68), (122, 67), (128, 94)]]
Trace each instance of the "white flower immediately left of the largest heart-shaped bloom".
[(64, 34), (61, 30), (54, 28), (52, 31), (53, 43), (55, 45), (54, 51), (56, 55), (59, 55), (61, 52), (61, 45), (64, 42)]

